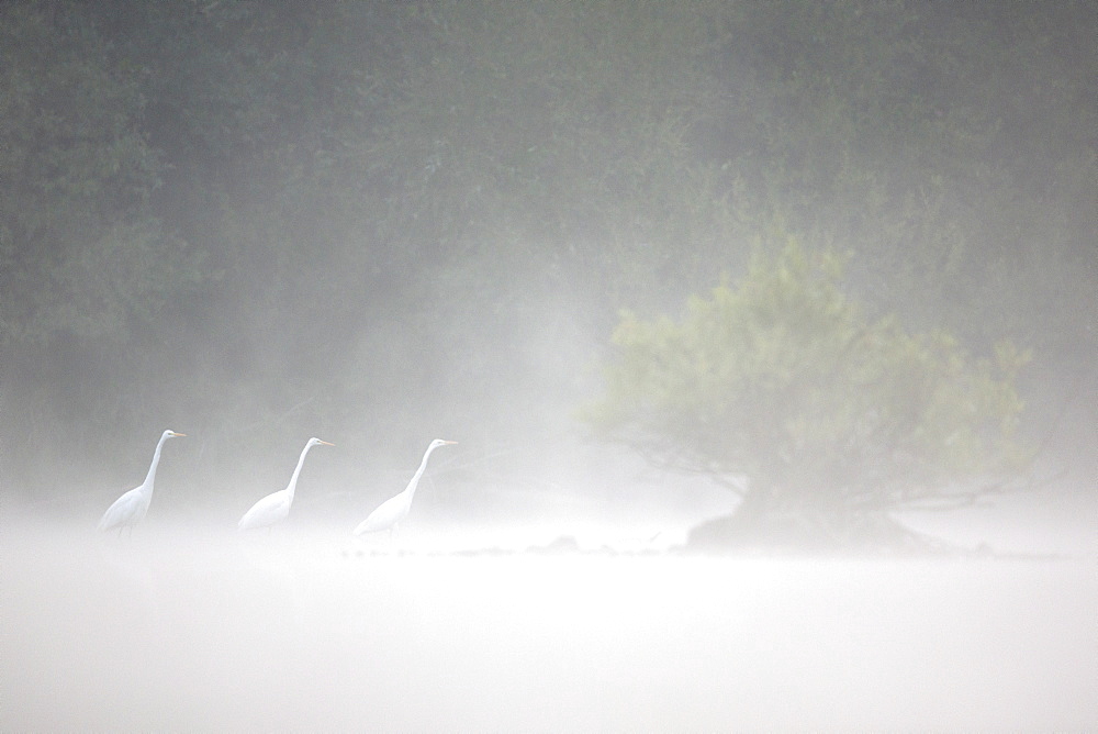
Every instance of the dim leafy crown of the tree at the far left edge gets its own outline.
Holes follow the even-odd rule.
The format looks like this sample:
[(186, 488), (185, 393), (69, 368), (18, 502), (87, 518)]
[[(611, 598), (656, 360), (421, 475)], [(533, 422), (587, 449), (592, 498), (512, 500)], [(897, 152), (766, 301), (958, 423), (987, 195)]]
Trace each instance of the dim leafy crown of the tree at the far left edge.
[(194, 262), (148, 208), (164, 164), (136, 76), (86, 19), (45, 10), (0, 7), (0, 343), (124, 343)]

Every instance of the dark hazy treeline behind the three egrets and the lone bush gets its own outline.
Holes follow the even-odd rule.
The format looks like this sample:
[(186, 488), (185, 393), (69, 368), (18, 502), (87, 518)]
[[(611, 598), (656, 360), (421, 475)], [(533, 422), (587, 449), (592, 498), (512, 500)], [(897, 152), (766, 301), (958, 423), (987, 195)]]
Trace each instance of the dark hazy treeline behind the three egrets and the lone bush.
[(775, 227), (1093, 380), (1096, 35), (1066, 0), (4, 2), (0, 491), (124, 480), (165, 427), (199, 480), (560, 435), (617, 309)]

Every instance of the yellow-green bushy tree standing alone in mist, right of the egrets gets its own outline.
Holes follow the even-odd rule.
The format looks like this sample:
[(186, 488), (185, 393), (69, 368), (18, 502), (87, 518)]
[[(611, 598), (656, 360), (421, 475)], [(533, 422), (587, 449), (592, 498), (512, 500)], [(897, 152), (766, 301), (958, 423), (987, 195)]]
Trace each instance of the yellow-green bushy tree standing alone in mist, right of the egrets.
[(740, 493), (708, 531), (724, 541), (879, 537), (889, 510), (967, 502), (1018, 467), (1027, 355), (974, 360), (946, 333), (870, 318), (840, 288), (842, 257), (781, 240), (677, 322), (623, 314), (589, 413), (604, 436)]

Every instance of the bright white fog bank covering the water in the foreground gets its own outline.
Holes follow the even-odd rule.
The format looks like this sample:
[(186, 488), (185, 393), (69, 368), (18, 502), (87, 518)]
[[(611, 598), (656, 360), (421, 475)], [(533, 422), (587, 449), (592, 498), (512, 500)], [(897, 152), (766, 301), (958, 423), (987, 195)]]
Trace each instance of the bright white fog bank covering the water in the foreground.
[(1075, 560), (357, 555), (3, 532), (4, 730), (1082, 730)]

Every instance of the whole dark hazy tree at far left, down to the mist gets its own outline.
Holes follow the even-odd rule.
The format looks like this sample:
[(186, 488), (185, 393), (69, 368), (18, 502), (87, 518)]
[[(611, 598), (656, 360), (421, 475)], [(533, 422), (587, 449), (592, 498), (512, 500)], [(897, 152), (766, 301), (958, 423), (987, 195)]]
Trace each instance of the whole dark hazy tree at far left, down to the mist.
[(200, 269), (150, 205), (166, 165), (141, 131), (141, 71), (83, 10), (0, 3), (0, 412), (27, 465), (64, 465), (132, 414), (157, 320)]

